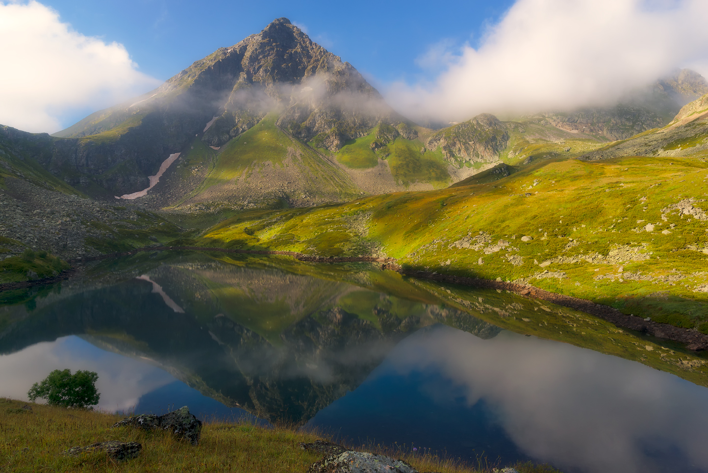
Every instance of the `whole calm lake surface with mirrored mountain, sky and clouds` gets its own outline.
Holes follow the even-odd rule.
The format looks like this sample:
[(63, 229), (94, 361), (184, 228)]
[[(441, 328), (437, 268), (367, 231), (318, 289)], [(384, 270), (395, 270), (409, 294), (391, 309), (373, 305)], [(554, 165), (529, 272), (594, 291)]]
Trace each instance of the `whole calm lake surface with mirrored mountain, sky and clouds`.
[(507, 293), (155, 255), (0, 300), (4, 397), (69, 367), (98, 372), (108, 411), (188, 405), (565, 472), (708, 472), (702, 358)]

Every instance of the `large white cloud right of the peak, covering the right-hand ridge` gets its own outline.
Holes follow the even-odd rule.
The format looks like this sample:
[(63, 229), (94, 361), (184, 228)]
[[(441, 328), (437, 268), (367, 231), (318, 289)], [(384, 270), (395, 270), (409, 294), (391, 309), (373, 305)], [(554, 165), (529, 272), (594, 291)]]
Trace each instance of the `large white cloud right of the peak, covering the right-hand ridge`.
[(477, 49), (421, 57), (447, 67), (430, 84), (393, 84), (411, 118), (467, 120), (616, 101), (675, 67), (708, 75), (704, 0), (518, 0)]

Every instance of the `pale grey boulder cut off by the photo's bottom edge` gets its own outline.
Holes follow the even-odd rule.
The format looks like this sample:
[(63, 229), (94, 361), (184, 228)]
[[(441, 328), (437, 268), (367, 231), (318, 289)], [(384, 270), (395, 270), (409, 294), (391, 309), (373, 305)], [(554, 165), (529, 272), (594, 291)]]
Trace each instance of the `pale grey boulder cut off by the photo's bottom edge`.
[(307, 473), (418, 473), (403, 460), (367, 452), (343, 452), (310, 465)]

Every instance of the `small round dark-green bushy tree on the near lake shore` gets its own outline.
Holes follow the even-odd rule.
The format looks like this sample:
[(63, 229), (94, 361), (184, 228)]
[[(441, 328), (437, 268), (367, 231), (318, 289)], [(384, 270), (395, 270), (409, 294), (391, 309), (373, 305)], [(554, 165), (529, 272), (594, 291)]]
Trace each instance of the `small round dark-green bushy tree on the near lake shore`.
[(40, 383), (30, 387), (30, 401), (47, 399), (50, 406), (88, 408), (98, 404), (101, 394), (96, 390), (98, 374), (93, 371), (54, 370)]

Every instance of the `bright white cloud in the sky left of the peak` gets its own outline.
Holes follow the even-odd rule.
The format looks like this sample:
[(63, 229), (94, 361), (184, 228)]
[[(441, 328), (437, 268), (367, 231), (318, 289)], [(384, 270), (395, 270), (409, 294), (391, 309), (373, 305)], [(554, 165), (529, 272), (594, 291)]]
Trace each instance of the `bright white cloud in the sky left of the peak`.
[(76, 108), (113, 105), (159, 85), (125, 47), (72, 30), (37, 1), (0, 2), (0, 123), (55, 132)]

